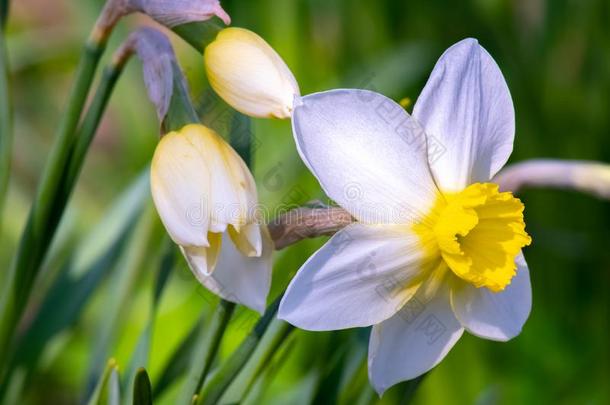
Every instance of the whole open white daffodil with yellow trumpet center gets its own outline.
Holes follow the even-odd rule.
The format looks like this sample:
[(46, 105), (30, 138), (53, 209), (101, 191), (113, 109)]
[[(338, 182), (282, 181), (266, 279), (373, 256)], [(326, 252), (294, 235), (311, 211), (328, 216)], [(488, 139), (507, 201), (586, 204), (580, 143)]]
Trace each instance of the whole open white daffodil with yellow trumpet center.
[(308, 330), (373, 326), (381, 394), (438, 364), (464, 330), (505, 341), (531, 307), (523, 204), (491, 183), (514, 139), (492, 57), (466, 39), (437, 62), (409, 116), (365, 90), (295, 101), (299, 153), (358, 222), (299, 270), (279, 317)]

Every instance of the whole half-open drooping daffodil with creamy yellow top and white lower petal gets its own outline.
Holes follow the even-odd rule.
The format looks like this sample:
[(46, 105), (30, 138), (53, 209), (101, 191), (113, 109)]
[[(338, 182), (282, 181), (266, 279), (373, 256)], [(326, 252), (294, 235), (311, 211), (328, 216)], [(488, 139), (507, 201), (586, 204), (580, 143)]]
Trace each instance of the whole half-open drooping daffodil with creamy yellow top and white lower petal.
[(151, 190), (197, 279), (224, 299), (262, 313), (273, 247), (256, 218), (252, 174), (233, 148), (203, 125), (166, 134), (153, 156)]

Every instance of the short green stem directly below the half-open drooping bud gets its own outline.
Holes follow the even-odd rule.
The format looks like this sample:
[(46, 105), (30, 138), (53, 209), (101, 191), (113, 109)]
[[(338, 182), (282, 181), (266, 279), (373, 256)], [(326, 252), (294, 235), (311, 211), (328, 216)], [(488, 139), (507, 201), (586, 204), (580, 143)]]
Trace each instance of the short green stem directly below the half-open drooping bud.
[(235, 311), (235, 304), (229, 301), (220, 300), (218, 307), (214, 311), (211, 322), (202, 329), (199, 339), (202, 345), (193, 356), (193, 365), (186, 380), (186, 385), (182, 393), (182, 398), (178, 403), (188, 404), (193, 396), (197, 394), (212, 368), (220, 342), (224, 336), (229, 320)]

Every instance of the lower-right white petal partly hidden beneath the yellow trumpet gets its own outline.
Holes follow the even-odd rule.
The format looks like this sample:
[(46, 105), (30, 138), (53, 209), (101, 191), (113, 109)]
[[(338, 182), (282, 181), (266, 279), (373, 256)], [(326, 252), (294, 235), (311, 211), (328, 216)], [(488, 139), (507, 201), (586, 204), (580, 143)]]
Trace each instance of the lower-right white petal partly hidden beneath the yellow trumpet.
[(521, 332), (532, 308), (532, 290), (523, 255), (515, 261), (517, 275), (500, 293), (467, 283), (460, 283), (452, 290), (451, 305), (468, 332), (499, 341), (512, 339)]

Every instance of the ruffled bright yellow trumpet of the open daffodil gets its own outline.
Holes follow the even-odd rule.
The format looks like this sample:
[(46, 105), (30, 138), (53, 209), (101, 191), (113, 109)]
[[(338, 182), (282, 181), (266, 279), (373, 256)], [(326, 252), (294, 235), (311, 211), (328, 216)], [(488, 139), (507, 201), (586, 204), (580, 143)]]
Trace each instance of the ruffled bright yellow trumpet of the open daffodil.
[(436, 245), (456, 276), (499, 292), (515, 275), (515, 257), (531, 243), (523, 208), (496, 184), (475, 183), (459, 193), (439, 195), (414, 230), (425, 246)]

